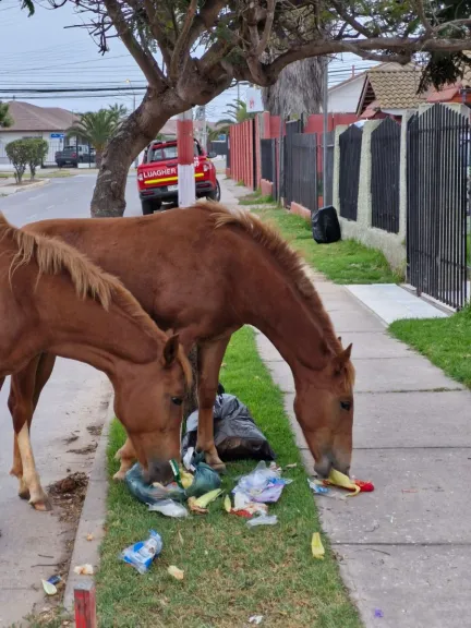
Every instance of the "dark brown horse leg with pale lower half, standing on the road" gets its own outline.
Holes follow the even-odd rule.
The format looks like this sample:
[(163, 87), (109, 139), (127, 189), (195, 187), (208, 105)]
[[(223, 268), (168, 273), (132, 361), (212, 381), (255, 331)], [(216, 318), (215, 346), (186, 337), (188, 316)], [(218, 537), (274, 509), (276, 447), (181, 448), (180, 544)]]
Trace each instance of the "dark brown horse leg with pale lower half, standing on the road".
[(36, 510), (50, 510), (51, 506), (36, 471), (29, 430), (39, 395), (52, 373), (55, 362), (55, 355), (44, 353), (11, 378), (9, 408), (13, 418), (14, 444), (10, 473), (19, 479), (20, 497), (29, 499)]

